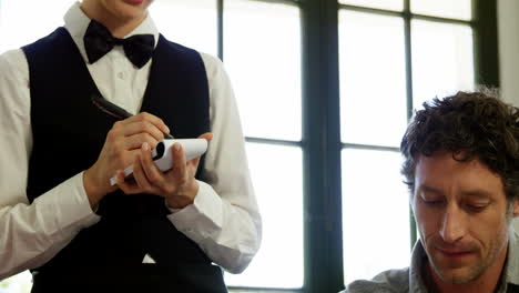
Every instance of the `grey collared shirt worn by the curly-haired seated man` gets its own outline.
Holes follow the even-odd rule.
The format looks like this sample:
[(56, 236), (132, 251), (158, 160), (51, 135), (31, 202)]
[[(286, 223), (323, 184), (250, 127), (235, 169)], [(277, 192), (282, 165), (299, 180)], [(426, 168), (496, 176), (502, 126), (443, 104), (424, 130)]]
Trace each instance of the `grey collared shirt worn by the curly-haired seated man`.
[[(508, 242), (508, 256), (501, 282), (496, 293), (519, 292), (519, 241), (511, 229)], [(429, 292), (420, 272), (427, 254), (420, 241), (417, 241), (411, 254), (411, 264), (401, 270), (389, 270), (379, 273), (372, 280), (352, 282), (343, 293), (427, 293)]]

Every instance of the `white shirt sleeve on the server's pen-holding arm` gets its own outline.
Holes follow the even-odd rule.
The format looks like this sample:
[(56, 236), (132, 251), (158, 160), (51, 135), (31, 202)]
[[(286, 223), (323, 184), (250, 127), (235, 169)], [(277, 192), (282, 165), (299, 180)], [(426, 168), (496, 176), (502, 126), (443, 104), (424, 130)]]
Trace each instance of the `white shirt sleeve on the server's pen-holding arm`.
[(44, 264), (100, 220), (90, 208), (82, 172), (29, 204), (30, 119), (26, 55), (6, 52), (0, 55), (0, 280)]

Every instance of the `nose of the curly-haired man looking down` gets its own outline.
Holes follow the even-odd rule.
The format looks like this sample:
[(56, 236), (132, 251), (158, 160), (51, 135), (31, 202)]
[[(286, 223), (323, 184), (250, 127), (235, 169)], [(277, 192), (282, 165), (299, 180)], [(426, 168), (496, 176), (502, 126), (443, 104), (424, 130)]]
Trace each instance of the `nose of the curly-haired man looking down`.
[(462, 239), (467, 232), (462, 211), (455, 204), (447, 206), (441, 220), (440, 235), (447, 243)]

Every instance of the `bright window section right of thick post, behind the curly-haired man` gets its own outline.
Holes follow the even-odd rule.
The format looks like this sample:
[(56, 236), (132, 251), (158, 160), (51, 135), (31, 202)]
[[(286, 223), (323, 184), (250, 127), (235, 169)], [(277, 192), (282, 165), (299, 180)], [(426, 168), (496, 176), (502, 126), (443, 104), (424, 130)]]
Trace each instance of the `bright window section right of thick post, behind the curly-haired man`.
[(409, 113), (425, 100), (472, 90), (475, 68), (470, 0), (339, 2), (343, 260), (348, 284), (409, 265), (416, 228), (399, 175), (400, 139)]

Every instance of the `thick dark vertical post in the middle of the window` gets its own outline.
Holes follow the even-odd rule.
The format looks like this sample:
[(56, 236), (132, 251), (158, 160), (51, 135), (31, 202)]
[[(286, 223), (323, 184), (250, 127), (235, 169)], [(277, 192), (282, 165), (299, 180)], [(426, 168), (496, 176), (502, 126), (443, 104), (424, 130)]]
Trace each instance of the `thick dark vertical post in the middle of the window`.
[(305, 292), (344, 287), (338, 3), (302, 1)]

